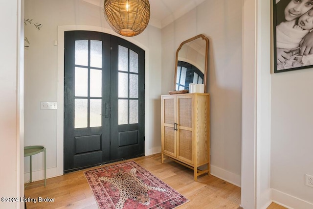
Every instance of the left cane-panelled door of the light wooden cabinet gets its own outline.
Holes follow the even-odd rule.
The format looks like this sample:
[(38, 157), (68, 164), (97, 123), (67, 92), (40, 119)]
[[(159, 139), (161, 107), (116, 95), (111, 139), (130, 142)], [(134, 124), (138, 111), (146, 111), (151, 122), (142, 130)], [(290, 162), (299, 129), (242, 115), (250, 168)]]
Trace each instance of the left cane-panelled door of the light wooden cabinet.
[(176, 157), (176, 97), (162, 97), (162, 152)]

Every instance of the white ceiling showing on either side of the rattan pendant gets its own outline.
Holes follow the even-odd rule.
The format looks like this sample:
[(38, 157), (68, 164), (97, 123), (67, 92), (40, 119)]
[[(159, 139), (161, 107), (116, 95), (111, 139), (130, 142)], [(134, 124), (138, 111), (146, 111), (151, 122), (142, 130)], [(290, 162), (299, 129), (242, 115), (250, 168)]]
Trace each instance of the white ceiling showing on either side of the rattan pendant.
[[(83, 0), (88, 3), (103, 7), (104, 0)], [(204, 0), (149, 0), (150, 22), (149, 24), (162, 28), (172, 23), (185, 13), (189, 12)]]

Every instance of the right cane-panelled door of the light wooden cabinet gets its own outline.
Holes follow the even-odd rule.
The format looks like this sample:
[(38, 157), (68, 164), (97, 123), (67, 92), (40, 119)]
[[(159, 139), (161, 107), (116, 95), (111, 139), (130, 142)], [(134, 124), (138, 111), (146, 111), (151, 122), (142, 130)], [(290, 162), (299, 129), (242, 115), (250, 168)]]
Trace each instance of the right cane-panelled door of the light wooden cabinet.
[(194, 163), (194, 99), (192, 95), (177, 97), (177, 158)]

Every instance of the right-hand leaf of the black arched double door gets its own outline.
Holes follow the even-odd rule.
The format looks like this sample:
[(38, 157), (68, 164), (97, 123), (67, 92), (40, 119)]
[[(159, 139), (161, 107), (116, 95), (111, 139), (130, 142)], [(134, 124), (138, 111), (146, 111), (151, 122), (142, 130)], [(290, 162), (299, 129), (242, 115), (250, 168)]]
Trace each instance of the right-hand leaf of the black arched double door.
[(111, 159), (144, 155), (144, 50), (112, 37)]

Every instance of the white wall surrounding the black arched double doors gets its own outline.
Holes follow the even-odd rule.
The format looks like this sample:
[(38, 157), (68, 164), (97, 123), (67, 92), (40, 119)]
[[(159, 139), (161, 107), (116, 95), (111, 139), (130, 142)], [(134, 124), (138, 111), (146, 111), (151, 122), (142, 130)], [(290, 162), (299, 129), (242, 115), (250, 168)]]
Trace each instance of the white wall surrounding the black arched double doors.
[[(104, 19), (102, 7), (82, 0), (26, 0), (25, 18), (43, 25), (39, 31), (31, 24), (25, 27), (25, 36), (30, 42), (29, 49), (25, 50), (25, 145), (46, 147), (47, 177), (51, 177), (58, 175), (56, 168), (60, 165), (57, 163), (57, 152), (60, 152), (60, 143), (57, 143), (60, 141), (57, 139), (59, 121), (57, 111), (40, 110), (40, 102), (57, 101), (58, 98), (58, 54), (57, 46), (53, 45), (58, 39), (58, 26), (90, 25), (112, 29)], [(148, 25), (140, 35), (125, 39), (149, 50), (146, 60), (146, 154), (149, 155), (159, 152), (161, 146), (161, 29)], [(33, 171), (34, 180), (43, 178), (41, 154), (33, 156)], [(25, 172), (27, 181), (28, 159), (25, 159)]]

